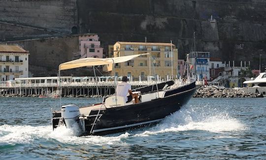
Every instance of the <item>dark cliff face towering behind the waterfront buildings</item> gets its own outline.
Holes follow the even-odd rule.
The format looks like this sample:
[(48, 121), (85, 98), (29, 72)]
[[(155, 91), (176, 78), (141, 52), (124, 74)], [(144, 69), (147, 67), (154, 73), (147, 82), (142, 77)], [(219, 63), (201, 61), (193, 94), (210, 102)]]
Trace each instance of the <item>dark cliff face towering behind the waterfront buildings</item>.
[[(90, 32), (99, 34), (107, 52), (108, 44), (147, 37), (172, 40), (184, 59), (196, 32), (196, 50), (223, 61), (251, 61), (258, 69), (259, 54), (266, 66), (265, 8), (265, 0), (5, 0), (0, 1), (0, 41)], [(30, 59), (45, 54), (27, 47)]]

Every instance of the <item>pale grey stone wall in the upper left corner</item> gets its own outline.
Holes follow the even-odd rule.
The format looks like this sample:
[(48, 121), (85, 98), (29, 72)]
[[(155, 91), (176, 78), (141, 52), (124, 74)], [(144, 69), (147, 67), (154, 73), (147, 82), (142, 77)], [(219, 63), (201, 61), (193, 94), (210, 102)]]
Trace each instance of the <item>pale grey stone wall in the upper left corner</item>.
[(78, 27), (76, 0), (0, 0), (0, 21), (71, 33)]

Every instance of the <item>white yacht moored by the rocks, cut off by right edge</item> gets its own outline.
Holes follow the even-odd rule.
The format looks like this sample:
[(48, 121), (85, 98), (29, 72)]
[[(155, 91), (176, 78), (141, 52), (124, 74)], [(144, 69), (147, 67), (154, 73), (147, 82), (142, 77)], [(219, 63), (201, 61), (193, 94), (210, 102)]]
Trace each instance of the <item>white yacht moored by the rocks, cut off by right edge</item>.
[(245, 91), (266, 97), (266, 72), (260, 73), (254, 80), (251, 78), (251, 80), (244, 81), (243, 84), (247, 84), (247, 87), (243, 88)]

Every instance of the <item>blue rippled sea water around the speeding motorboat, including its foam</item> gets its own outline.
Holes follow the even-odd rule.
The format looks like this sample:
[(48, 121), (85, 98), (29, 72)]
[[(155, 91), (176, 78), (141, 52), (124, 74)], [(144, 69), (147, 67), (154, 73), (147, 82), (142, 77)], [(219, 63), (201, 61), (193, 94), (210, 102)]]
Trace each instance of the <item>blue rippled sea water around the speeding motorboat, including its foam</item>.
[(192, 98), (157, 125), (85, 137), (77, 126), (53, 130), (51, 108), (59, 99), (0, 98), (0, 160), (266, 159), (266, 98)]

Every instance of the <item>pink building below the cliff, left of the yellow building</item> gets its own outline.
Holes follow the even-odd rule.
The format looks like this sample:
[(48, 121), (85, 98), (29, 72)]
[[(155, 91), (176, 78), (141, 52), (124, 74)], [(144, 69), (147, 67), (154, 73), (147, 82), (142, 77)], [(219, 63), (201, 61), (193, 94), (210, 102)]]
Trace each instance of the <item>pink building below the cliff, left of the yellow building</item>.
[(103, 48), (100, 47), (99, 37), (96, 34), (79, 36), (80, 58), (102, 58)]

